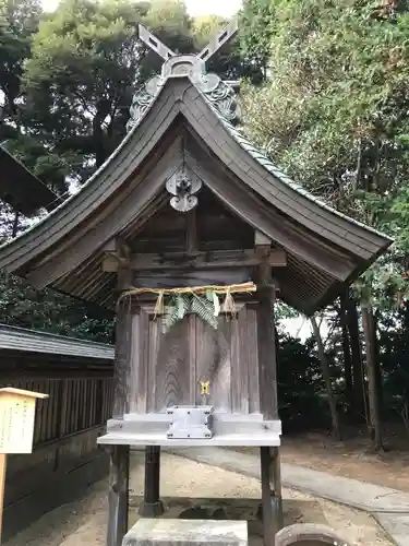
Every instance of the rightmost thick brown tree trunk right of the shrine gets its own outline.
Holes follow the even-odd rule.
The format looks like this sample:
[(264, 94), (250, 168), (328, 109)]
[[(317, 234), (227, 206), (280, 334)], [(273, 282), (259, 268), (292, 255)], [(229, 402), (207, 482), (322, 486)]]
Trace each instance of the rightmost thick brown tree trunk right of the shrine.
[(369, 391), (369, 431), (371, 435), (372, 448), (383, 449), (382, 424), (380, 415), (380, 404), (377, 397), (376, 370), (375, 370), (375, 324), (373, 310), (370, 305), (362, 305), (362, 328), (365, 340), (368, 391)]

